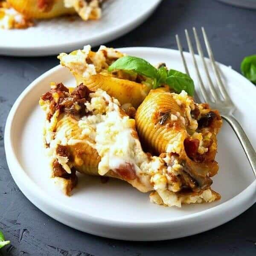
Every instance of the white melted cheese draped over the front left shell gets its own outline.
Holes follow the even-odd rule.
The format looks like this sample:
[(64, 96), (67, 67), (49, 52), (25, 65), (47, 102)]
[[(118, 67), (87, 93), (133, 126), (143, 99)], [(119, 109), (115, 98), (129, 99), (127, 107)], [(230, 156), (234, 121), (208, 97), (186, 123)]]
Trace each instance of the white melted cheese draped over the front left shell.
[(126, 163), (131, 163), (135, 171), (140, 172), (140, 164), (148, 157), (142, 151), (139, 140), (132, 136), (135, 120), (120, 113), (119, 102), (104, 91), (97, 90), (90, 93), (90, 97), (91, 102), (85, 105), (93, 115), (84, 116), (79, 121), (79, 127), (95, 141), (93, 147), (101, 157), (99, 174), (105, 175)]

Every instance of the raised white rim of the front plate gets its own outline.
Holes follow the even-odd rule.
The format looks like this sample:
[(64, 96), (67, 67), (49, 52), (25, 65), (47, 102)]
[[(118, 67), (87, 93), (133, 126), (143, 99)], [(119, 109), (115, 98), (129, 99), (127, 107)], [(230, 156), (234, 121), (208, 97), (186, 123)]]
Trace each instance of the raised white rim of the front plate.
[[(175, 49), (166, 49), (166, 48), (157, 48), (157, 47), (125, 47), (125, 48), (119, 48), (122, 51), (125, 50), (137, 50), (137, 51), (146, 51), (148, 52), (148, 54), (150, 54), (150, 52), (161, 52), (161, 51), (169, 51), (170, 54), (174, 53), (177, 54), (177, 50)], [(184, 53), (185, 55), (189, 55), (188, 52)], [(221, 64), (223, 65), (223, 64)], [(225, 66), (225, 65), (224, 65)], [(227, 67), (227, 66), (225, 66)], [(230, 216), (228, 218), (224, 218), (222, 221), (219, 221), (218, 224), (213, 225), (213, 227), (217, 227), (221, 224), (224, 224), (227, 221), (230, 221), (231, 219), (235, 218), (236, 216), (240, 215), (242, 212), (244, 212), (245, 210), (247, 210), (249, 207), (251, 207), (255, 202), (256, 202), (256, 197), (255, 195), (253, 196), (253, 194), (256, 193), (256, 180), (254, 180), (249, 186), (247, 186), (243, 191), (241, 191), (239, 194), (237, 194), (235, 197), (230, 198), (229, 200), (223, 202), (222, 204), (218, 204), (214, 207), (211, 207), (209, 209), (205, 209), (203, 211), (200, 212), (195, 212), (189, 215), (183, 215), (183, 216), (179, 216), (179, 217), (175, 217), (172, 219), (163, 219), (163, 220), (158, 220), (158, 221), (154, 221), (154, 219), (152, 219), (151, 221), (116, 221), (113, 219), (109, 219), (109, 218), (104, 218), (104, 217), (95, 217), (93, 215), (89, 215), (86, 212), (77, 210), (77, 209), (73, 209), (72, 211), (70, 211), (70, 207), (63, 205), (61, 203), (59, 203), (56, 199), (53, 198), (53, 200), (49, 201), (48, 195), (46, 192), (44, 192), (37, 184), (35, 184), (33, 182), (33, 180), (26, 174), (26, 172), (23, 171), (23, 167), (20, 165), (19, 160), (17, 158), (17, 155), (15, 154), (14, 148), (13, 148), (13, 143), (12, 143), (12, 122), (15, 119), (15, 114), (17, 113), (17, 109), (20, 105), (20, 102), (22, 102), (22, 100), (26, 97), (26, 95), (33, 90), (34, 87), (37, 86), (37, 84), (43, 80), (45, 77), (50, 76), (52, 73), (58, 72), (61, 69), (65, 69), (64, 67), (62, 67), (61, 65), (57, 65), (53, 68), (51, 68), (50, 70), (48, 70), (47, 72), (43, 73), (41, 76), (39, 76), (37, 79), (35, 79), (34, 81), (32, 81), (31, 84), (29, 84), (28, 87), (25, 88), (25, 90), (23, 90), (23, 92), (20, 94), (20, 96), (17, 98), (17, 100), (15, 101), (14, 105), (11, 108), (11, 111), (9, 112), (9, 115), (7, 117), (7, 121), (6, 121), (6, 126), (5, 126), (5, 131), (4, 131), (4, 147), (5, 147), (5, 151), (6, 151), (6, 160), (9, 166), (9, 170), (10, 173), (13, 177), (13, 179), (15, 180), (15, 183), (17, 184), (17, 186), (19, 187), (19, 189), (23, 192), (23, 194), (26, 196), (26, 198), (29, 199), (29, 201), (31, 201), (36, 207), (38, 207), (39, 209), (41, 209), (43, 212), (45, 212), (47, 215), (50, 215), (52, 218), (57, 219), (58, 221), (61, 221), (64, 224), (67, 224), (68, 226), (74, 227), (72, 224), (67, 223), (67, 221), (63, 221), (60, 220), (61, 218), (56, 217), (56, 215), (54, 214), (49, 214), (49, 212), (46, 212), (44, 209), (42, 209), (42, 205), (48, 205), (48, 207), (51, 207), (53, 211), (60, 211), (61, 209), (61, 213), (68, 215), (68, 216), (76, 216), (77, 218), (79, 218), (82, 221), (89, 221), (90, 223), (94, 223), (97, 225), (108, 225), (111, 227), (131, 227), (131, 228), (137, 228), (137, 227), (154, 227), (157, 226), (159, 227), (159, 225), (163, 225), (163, 224), (173, 224), (173, 223), (179, 223), (179, 222), (184, 222), (184, 221), (192, 221), (197, 219), (198, 217), (201, 219), (207, 219), (207, 218), (211, 218), (211, 216), (214, 215), (218, 215), (220, 212), (225, 212), (227, 210), (231, 211), (233, 209), (236, 209), (237, 206), (239, 205), (239, 207), (241, 207), (242, 209), (238, 209), (237, 211), (235, 211), (232, 214), (230, 214)], [(234, 72), (236, 72), (235, 70), (233, 70)], [(236, 72), (239, 76), (241, 76), (241, 74), (239, 74), (238, 72)], [(241, 76), (243, 79), (245, 79), (243, 76)], [(247, 81), (247, 79), (245, 79)], [(247, 84), (247, 86), (250, 85), (250, 87), (254, 87), (254, 85), (252, 83), (250, 83), (250, 81), (247, 81), (245, 84)], [(254, 88), (255, 89), (255, 88)], [(17, 175), (18, 174), (18, 175)], [(27, 184), (27, 182), (30, 183), (31, 186), (26, 187), (24, 184)], [(35, 193), (36, 191), (36, 193)], [(33, 196), (32, 193), (34, 193), (37, 196)], [(253, 200), (254, 199), (254, 200)], [(38, 203), (39, 202), (39, 203)], [(41, 205), (40, 205), (41, 204)], [(70, 214), (70, 212), (72, 212), (72, 214)], [(54, 215), (54, 216), (53, 216)], [(209, 230), (213, 227), (210, 227), (208, 229), (204, 229), (203, 231)], [(76, 229), (79, 229), (77, 227), (74, 227)], [(81, 231), (85, 231), (82, 227), (80, 229)], [(88, 232), (88, 231), (85, 231)], [(198, 231), (198, 232), (191, 232), (189, 235), (195, 234), (195, 233), (199, 233), (202, 231)], [(93, 233), (93, 232), (89, 232), (89, 233)], [(99, 235), (98, 233), (94, 233), (96, 235)], [(102, 235), (101, 235), (102, 236)], [(103, 235), (104, 236), (104, 235)], [(187, 235), (185, 235), (187, 236)], [(110, 236), (108, 236), (110, 237)], [(177, 237), (182, 237), (182, 236), (175, 236)], [(111, 238), (118, 238), (118, 237), (111, 237)], [(120, 238), (119, 238), (120, 239)], [(122, 238), (123, 239), (123, 238)], [(169, 239), (169, 238), (166, 238)], [(147, 239), (134, 239), (134, 240), (144, 240), (146, 241)], [(149, 239), (151, 240), (151, 239)], [(153, 239), (158, 240), (158, 239)], [(160, 239), (163, 240), (163, 239)]]

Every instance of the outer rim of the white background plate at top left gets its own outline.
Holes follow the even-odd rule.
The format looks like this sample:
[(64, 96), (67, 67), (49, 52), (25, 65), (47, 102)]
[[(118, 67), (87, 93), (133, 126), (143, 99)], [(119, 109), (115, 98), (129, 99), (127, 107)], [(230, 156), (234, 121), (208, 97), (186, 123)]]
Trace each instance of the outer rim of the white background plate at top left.
[[(47, 56), (47, 55), (55, 55), (61, 51), (69, 52), (70, 49), (76, 49), (81, 47), (83, 44), (90, 44), (92, 47), (95, 47), (99, 44), (108, 43), (111, 40), (121, 37), (122, 35), (131, 32), (131, 30), (135, 29), (137, 26), (140, 26), (160, 5), (162, 0), (154, 0), (155, 2), (143, 12), (142, 15), (134, 17), (134, 19), (125, 22), (124, 24), (117, 26), (116, 28), (110, 28), (100, 33), (99, 35), (94, 36), (90, 39), (81, 39), (79, 41), (71, 41), (68, 43), (60, 43), (54, 46), (33, 46), (33, 47), (25, 47), (25, 46), (7, 46), (0, 45), (0, 52), (7, 51), (7, 53), (1, 53), (6, 56)], [(86, 41), (91, 41), (91, 43), (87, 43)], [(66, 49), (66, 50), (65, 50)], [(38, 52), (39, 51), (39, 52)], [(12, 53), (11, 53), (12, 52)]]

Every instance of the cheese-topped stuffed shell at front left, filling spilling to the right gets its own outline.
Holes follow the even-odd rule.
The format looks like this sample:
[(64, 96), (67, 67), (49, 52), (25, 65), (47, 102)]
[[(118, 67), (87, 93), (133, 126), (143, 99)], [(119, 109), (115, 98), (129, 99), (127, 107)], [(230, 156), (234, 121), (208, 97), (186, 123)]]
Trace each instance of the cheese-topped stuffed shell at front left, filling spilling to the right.
[(65, 194), (76, 186), (78, 171), (125, 180), (141, 192), (152, 191), (151, 201), (166, 206), (220, 198), (210, 184), (202, 187), (186, 170), (169, 172), (172, 153), (145, 153), (135, 120), (105, 91), (83, 84), (69, 90), (53, 83), (39, 103), (46, 113), (44, 144), (52, 177)]

